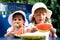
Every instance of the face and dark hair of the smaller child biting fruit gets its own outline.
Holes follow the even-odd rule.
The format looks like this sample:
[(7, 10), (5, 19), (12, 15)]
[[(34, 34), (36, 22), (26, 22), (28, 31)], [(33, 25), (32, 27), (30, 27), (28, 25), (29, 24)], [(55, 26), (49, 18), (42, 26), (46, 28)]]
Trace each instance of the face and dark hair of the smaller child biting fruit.
[(25, 22), (25, 19), (22, 14), (16, 13), (13, 15), (13, 24), (24, 24), (24, 22)]

